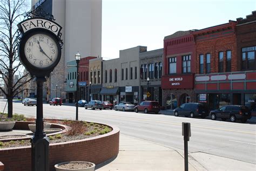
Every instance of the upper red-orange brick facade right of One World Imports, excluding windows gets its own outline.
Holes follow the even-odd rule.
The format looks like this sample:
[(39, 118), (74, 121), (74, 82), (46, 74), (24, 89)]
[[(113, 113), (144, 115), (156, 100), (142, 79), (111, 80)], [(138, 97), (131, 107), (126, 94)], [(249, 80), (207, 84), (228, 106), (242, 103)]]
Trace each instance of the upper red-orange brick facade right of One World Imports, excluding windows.
[(224, 72), (226, 71), (226, 51), (231, 50), (231, 71), (238, 71), (237, 41), (235, 22), (213, 26), (193, 33), (196, 40), (196, 74), (199, 74), (199, 55), (204, 55), (204, 73), (206, 73), (206, 54), (211, 54), (211, 73), (219, 72), (219, 52), (224, 52)]

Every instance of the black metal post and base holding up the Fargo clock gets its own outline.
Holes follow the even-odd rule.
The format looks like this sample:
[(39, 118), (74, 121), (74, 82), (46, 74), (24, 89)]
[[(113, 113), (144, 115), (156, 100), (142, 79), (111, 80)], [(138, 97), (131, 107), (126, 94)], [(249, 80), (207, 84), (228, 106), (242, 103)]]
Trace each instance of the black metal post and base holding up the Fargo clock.
[(31, 138), (32, 171), (49, 171), (49, 138), (44, 132), (43, 83), (45, 78), (37, 78), (36, 132)]

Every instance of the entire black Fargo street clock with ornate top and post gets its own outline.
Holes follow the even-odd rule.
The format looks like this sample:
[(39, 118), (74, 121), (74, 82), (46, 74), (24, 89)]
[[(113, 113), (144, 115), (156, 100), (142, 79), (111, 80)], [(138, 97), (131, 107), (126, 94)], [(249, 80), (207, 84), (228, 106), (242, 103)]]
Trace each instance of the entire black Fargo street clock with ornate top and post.
[[(19, 59), (37, 82), (36, 132), (31, 138), (31, 165), (35, 171), (49, 171), (49, 138), (44, 132), (43, 83), (61, 57), (62, 27), (42, 8), (26, 14), (28, 19), (18, 24), (20, 35)], [(34, 18), (32, 18), (33, 16)]]

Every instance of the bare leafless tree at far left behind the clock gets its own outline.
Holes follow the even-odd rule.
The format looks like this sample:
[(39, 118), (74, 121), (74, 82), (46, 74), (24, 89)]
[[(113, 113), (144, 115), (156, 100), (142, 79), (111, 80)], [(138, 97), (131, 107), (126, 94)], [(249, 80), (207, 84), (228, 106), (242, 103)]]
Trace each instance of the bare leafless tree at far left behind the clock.
[(12, 118), (12, 100), (23, 91), (23, 84), (30, 81), (29, 73), (14, 81), (14, 76), (24, 69), (18, 58), (17, 24), (24, 19), (26, 0), (0, 0), (0, 79), (6, 88), (0, 91), (8, 99), (8, 117)]

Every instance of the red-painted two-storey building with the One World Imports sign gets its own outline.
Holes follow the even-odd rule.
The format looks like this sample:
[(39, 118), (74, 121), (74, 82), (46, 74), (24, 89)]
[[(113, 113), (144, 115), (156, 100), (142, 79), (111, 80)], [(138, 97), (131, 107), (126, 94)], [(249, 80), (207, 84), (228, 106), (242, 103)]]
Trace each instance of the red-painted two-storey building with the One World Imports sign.
[(196, 47), (194, 30), (178, 31), (164, 38), (164, 71), (161, 79), (163, 106), (174, 109), (193, 102)]

